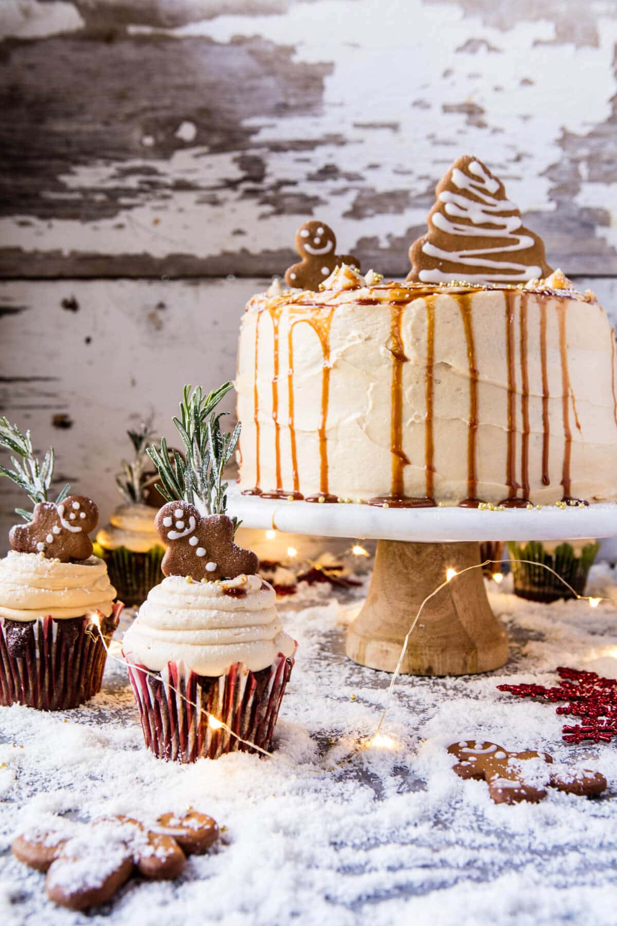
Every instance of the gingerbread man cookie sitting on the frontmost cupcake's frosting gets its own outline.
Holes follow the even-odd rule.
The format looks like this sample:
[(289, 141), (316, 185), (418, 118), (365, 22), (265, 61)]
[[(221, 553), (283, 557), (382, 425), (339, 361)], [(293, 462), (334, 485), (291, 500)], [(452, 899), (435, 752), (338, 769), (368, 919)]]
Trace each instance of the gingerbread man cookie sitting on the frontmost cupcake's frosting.
[(195, 582), (254, 575), (259, 560), (233, 542), (233, 521), (227, 515), (203, 518), (188, 502), (168, 502), (154, 527), (167, 545), (161, 569), (166, 576), (190, 576)]

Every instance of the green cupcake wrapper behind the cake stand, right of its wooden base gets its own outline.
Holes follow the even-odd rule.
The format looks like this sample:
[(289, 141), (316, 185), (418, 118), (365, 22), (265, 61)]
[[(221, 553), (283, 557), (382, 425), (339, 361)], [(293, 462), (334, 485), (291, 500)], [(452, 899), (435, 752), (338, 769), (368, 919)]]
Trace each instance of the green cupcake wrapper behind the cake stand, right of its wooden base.
[[(545, 553), (544, 544), (536, 540), (530, 540), (527, 544), (510, 542), (508, 550), (514, 594), (528, 601), (548, 604), (560, 598), (575, 598), (577, 594), (585, 593), (587, 576), (598, 556), (599, 544), (586, 544), (579, 556), (574, 553), (573, 546), (567, 543), (560, 544), (554, 553)], [(522, 559), (531, 562), (523, 563)], [(574, 592), (549, 572), (549, 569), (543, 569), (543, 566), (554, 569), (557, 576), (572, 586)]]

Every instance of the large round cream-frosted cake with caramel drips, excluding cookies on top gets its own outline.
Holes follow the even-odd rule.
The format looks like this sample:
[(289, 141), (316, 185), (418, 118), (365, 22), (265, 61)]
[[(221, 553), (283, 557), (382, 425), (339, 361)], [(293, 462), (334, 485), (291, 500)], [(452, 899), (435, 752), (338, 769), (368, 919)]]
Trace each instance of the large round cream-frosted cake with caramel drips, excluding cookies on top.
[[(554, 277), (556, 275), (553, 275)], [(617, 496), (611, 324), (593, 294), (377, 282), (259, 294), (241, 323), (241, 488), (499, 505)]]

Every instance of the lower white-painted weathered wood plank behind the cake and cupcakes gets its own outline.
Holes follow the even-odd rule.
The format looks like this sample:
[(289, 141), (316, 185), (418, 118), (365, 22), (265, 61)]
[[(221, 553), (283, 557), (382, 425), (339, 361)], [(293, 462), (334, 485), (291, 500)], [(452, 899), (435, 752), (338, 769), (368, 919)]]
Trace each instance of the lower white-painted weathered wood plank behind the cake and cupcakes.
[[(56, 446), (57, 482), (93, 494), (105, 519), (130, 450), (126, 429), (152, 415), (172, 440), (184, 383), (233, 378), (244, 305), (266, 283), (0, 283), (0, 412), (30, 427), (38, 447)], [(589, 285), (617, 322), (617, 280), (577, 282)], [(0, 551), (19, 504), (0, 479)]]

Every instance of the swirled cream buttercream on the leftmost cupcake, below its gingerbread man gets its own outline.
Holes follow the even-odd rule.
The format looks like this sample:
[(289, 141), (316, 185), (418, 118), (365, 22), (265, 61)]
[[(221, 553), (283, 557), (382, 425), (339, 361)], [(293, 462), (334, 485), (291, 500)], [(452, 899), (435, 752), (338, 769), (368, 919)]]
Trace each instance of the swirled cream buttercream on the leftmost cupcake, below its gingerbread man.
[(116, 589), (102, 559), (61, 563), (37, 553), (10, 551), (0, 559), (0, 618), (80, 618), (112, 612)]

